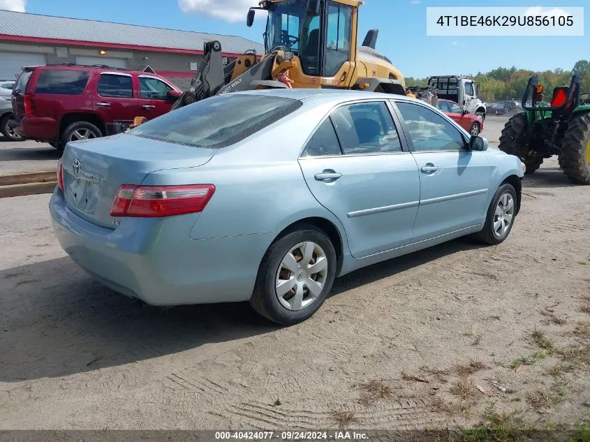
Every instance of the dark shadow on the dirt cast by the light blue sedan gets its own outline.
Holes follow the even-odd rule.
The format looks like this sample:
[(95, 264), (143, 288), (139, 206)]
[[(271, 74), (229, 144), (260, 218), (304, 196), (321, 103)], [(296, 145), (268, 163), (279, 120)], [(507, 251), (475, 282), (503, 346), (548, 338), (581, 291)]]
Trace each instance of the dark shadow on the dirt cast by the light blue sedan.
[[(365, 267), (337, 279), (332, 296), (480, 246), (462, 238)], [(148, 306), (92, 281), (68, 257), (1, 271), (0, 293), (1, 382), (116, 367), (280, 328), (245, 302)]]

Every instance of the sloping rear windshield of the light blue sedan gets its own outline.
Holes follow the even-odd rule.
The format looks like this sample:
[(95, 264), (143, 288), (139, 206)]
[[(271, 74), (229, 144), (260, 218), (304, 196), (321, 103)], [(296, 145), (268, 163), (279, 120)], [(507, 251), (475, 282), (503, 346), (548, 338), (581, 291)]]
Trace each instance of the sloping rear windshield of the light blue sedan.
[(227, 94), (162, 115), (129, 133), (179, 145), (219, 149), (235, 144), (302, 106), (290, 98)]

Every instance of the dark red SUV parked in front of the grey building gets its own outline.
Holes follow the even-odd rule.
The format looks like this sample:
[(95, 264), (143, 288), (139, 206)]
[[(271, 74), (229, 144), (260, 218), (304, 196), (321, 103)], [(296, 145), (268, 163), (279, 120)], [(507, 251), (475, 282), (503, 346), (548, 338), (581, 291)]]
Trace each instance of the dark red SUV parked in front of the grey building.
[(67, 142), (105, 135), (105, 124), (131, 124), (170, 111), (182, 94), (147, 72), (60, 64), (23, 68), (13, 89), (14, 128), (29, 140), (63, 149)]

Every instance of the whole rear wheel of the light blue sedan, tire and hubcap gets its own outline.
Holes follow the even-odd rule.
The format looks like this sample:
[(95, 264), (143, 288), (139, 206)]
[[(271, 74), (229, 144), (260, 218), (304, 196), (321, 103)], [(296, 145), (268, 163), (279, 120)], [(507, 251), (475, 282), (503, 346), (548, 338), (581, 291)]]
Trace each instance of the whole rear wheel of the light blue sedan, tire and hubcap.
[(265, 253), (250, 304), (281, 325), (305, 321), (332, 290), (336, 267), (336, 251), (323, 230), (298, 226)]

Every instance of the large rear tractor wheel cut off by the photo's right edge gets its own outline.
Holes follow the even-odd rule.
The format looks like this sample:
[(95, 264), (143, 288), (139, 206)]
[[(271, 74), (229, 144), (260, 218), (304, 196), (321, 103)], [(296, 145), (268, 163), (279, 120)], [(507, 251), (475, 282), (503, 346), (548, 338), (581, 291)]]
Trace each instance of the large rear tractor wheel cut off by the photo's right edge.
[(590, 184), (590, 113), (570, 121), (561, 143), (563, 172), (575, 184)]

